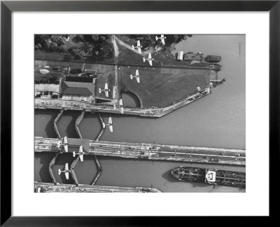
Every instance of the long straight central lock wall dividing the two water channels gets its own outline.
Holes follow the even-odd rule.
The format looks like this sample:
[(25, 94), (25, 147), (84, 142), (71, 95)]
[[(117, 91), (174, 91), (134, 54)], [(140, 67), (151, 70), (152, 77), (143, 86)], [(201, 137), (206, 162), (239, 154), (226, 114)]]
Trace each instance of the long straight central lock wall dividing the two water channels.
[[(57, 139), (35, 137), (36, 152), (57, 152)], [(104, 142), (90, 139), (68, 138), (69, 150), (83, 145), (85, 155), (113, 156), (148, 160), (172, 160), (191, 163), (246, 165), (246, 151), (199, 146), (177, 146), (127, 142)], [(72, 148), (71, 148), (72, 147)], [(64, 150), (62, 151), (64, 152)]]

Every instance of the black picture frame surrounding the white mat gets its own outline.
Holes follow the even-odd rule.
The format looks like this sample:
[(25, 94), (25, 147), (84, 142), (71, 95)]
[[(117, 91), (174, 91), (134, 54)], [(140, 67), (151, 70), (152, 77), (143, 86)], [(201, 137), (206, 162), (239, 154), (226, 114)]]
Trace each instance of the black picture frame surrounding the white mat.
[[(278, 1), (1, 1), (1, 226), (153, 226), (166, 217), (11, 216), (11, 13), (13, 11), (269, 11), (269, 216), (275, 216), (279, 171)], [(261, 32), (261, 31), (260, 31)], [(261, 45), (261, 44), (260, 44)], [(272, 198), (272, 200), (270, 200)], [(170, 207), (172, 208), (172, 207)], [(178, 218), (178, 217), (177, 217)], [(159, 224), (159, 223), (162, 224)], [(176, 220), (176, 223), (179, 223)]]

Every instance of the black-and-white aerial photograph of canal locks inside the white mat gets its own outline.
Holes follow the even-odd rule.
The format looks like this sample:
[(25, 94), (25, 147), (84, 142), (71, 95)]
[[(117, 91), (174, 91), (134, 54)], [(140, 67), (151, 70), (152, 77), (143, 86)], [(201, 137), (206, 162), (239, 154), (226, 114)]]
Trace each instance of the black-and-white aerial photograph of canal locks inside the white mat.
[(245, 193), (245, 34), (34, 34), (35, 193)]

